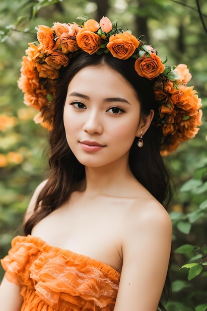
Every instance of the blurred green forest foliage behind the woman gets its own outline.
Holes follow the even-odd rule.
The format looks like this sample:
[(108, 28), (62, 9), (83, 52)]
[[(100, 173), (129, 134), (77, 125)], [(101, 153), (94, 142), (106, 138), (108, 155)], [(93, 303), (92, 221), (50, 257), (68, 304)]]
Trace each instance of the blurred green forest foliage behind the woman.
[[(206, 0), (1, 0), (0, 2), (0, 258), (16, 234), (36, 186), (47, 171), (47, 132), (35, 125), (35, 111), (23, 105), (16, 81), (35, 26), (75, 21), (78, 15), (118, 19), (154, 45), (169, 65), (188, 64), (203, 102), (203, 125), (195, 139), (166, 157), (175, 185), (172, 296), (168, 311), (207, 310), (207, 23)], [(149, 246), (150, 247), (150, 246)], [(180, 269), (185, 265), (182, 269)], [(3, 270), (0, 268), (0, 279)]]

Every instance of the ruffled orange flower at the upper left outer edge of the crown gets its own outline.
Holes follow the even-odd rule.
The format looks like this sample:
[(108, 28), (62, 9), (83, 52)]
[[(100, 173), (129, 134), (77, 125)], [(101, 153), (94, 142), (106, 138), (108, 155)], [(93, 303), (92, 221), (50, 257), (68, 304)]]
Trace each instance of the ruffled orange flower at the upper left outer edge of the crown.
[(43, 51), (51, 51), (54, 47), (54, 34), (53, 30), (44, 25), (39, 25), (37, 32), (37, 40), (40, 42)]

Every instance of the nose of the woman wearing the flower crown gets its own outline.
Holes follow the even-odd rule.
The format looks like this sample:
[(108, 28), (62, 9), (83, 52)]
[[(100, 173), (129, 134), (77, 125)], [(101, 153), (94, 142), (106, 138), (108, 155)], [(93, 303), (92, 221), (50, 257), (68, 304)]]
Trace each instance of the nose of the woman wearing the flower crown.
[(97, 111), (90, 111), (86, 115), (85, 124), (83, 126), (83, 130), (88, 132), (89, 134), (102, 134), (103, 125), (101, 120), (101, 115)]

